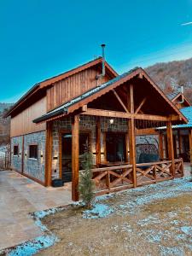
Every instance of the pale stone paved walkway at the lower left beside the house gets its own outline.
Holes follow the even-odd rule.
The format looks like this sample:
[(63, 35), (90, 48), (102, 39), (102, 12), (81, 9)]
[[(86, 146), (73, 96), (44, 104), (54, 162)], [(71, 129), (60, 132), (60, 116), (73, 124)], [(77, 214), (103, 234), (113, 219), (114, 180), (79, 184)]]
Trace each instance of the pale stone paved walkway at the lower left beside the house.
[(71, 191), (44, 188), (13, 171), (0, 171), (0, 250), (41, 236), (29, 212), (71, 203)]

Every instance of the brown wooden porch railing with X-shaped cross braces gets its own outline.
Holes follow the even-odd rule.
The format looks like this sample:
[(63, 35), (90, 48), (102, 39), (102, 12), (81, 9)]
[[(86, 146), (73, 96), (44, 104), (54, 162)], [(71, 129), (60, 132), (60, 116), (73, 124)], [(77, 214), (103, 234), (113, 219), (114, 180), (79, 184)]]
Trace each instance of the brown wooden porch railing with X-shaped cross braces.
[[(175, 177), (183, 177), (183, 160), (174, 160), (174, 163)], [(96, 195), (133, 188), (132, 165), (95, 168), (92, 172)], [(172, 179), (173, 172), (171, 160), (137, 164), (137, 186)]]

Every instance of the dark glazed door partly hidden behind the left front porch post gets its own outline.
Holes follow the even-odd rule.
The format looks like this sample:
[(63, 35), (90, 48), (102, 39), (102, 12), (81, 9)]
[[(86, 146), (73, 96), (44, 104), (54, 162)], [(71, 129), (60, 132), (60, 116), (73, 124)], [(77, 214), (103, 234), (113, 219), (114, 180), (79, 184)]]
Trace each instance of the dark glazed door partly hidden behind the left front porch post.
[[(86, 143), (90, 143), (90, 134), (82, 132), (79, 134), (79, 156), (84, 154)], [(79, 170), (81, 167), (81, 157), (79, 157)], [(63, 133), (61, 135), (61, 178), (64, 183), (72, 181), (72, 134)]]

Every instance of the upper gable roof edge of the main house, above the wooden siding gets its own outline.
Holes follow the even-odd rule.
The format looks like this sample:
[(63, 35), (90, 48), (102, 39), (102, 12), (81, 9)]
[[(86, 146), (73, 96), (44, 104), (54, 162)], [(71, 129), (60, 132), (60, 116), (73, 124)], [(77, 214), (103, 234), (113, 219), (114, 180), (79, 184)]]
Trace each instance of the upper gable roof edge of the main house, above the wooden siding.
[[(30, 90), (26, 92), (24, 96), (20, 98), (18, 102), (15, 103), (15, 105), (9, 109), (7, 113), (5, 113), (4, 118), (8, 117), (11, 113), (13, 113), (16, 108), (20, 107), (20, 105), (25, 102), (30, 96), (32, 96), (34, 93), (37, 93), (39, 90), (44, 90), (47, 86), (54, 84), (58, 81), (61, 81), (62, 79), (66, 79), (69, 76), (72, 76), (75, 73), (79, 73), (87, 68), (94, 67), (97, 64), (102, 63), (102, 57), (98, 57), (93, 61), (89, 61), (84, 63), (83, 65), (80, 65), (79, 67), (75, 67), (65, 73), (61, 73), (55, 77), (52, 77), (50, 79), (45, 79), (37, 84), (34, 84)], [(118, 73), (111, 67), (107, 61), (105, 61), (105, 67), (107, 68), (108, 72), (113, 75), (113, 77), (118, 76)]]

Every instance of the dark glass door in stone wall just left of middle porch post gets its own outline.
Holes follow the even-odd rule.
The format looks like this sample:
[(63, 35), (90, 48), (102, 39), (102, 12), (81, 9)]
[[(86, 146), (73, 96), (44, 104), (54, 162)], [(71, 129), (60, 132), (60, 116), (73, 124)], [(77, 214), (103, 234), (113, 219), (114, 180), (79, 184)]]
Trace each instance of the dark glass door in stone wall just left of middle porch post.
[(126, 150), (124, 133), (106, 133), (106, 156), (109, 162), (125, 161)]

